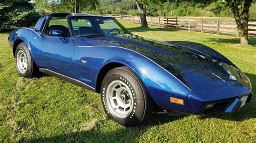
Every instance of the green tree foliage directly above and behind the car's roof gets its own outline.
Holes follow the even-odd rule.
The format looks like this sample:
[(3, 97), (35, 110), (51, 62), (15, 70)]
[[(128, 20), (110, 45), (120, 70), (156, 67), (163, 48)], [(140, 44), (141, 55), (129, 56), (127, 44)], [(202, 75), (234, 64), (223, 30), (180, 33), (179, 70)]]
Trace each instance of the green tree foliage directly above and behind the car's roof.
[(54, 11), (56, 6), (62, 7), (62, 9), (60, 9), (62, 11), (57, 11), (57, 12), (66, 12), (66, 10), (68, 10), (68, 12), (70, 13), (79, 13), (80, 10), (83, 10), (85, 8), (95, 9), (96, 6), (99, 4), (99, 0), (62, 0), (59, 2), (35, 0), (35, 3), (37, 3), (37, 5), (39, 6), (42, 6), (43, 8), (54, 10)]

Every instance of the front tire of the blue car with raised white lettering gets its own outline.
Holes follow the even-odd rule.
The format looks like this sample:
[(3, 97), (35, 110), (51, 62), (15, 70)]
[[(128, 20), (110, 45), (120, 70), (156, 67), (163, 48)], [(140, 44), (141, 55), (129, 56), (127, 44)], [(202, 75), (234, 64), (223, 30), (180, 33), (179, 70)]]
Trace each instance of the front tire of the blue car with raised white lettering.
[[(116, 89), (114, 85), (116, 85), (116, 83), (119, 84), (119, 82), (122, 83), (122, 86), (117, 85)], [(127, 87), (130, 89), (127, 89)], [(125, 90), (127, 90), (127, 92)], [(119, 91), (121, 92), (120, 94), (118, 94)], [(117, 95), (119, 95), (120, 98), (118, 98)], [(125, 98), (122, 98), (124, 95), (126, 95)], [(152, 115), (154, 107), (152, 98), (147, 94), (143, 83), (137, 75), (127, 67), (114, 68), (106, 74), (102, 82), (101, 97), (105, 112), (112, 120), (119, 124), (125, 126), (136, 126), (145, 123)], [(111, 103), (113, 106), (118, 106), (119, 104), (117, 99), (116, 102), (114, 102), (115, 99), (111, 98), (118, 98), (119, 103), (123, 100), (125, 105), (127, 103), (130, 107), (126, 109), (122, 107), (119, 107), (118, 109), (112, 108)], [(124, 117), (120, 117), (123, 115), (119, 115), (119, 113), (117, 113), (118, 111), (122, 112), (122, 110), (127, 113)]]

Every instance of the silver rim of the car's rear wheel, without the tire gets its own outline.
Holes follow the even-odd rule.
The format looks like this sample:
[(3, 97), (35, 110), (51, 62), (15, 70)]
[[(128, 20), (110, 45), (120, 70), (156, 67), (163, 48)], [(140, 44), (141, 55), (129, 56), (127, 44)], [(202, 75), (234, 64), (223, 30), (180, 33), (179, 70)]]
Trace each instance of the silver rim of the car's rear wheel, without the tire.
[(19, 50), (16, 58), (16, 64), (19, 72), (24, 74), (28, 69), (28, 58), (24, 51)]

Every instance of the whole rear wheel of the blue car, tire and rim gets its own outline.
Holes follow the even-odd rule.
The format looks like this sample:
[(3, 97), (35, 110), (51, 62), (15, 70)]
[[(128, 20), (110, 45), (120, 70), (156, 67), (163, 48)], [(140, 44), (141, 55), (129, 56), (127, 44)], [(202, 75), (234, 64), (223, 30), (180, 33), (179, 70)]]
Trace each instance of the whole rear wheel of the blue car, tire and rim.
[(16, 48), (15, 65), (19, 76), (32, 78), (39, 74), (39, 70), (24, 42)]

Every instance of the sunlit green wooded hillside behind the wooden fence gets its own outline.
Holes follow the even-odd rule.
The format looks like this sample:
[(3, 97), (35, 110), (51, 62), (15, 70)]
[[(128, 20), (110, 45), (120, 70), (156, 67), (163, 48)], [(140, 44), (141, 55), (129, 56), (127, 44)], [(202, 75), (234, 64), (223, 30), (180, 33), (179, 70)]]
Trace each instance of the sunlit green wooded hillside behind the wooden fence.
[[(152, 1), (150, 0), (149, 2), (147, 5), (147, 16), (233, 17), (232, 9), (225, 5), (222, 0), (201, 1), (200, 3), (197, 0), (169, 0), (158, 1), (158, 3), (151, 3)], [(104, 0), (100, 1), (95, 10), (86, 8), (82, 12), (94, 13), (96, 15), (139, 15), (134, 0)], [(256, 19), (256, 3), (253, 3), (251, 6), (250, 18)]]

